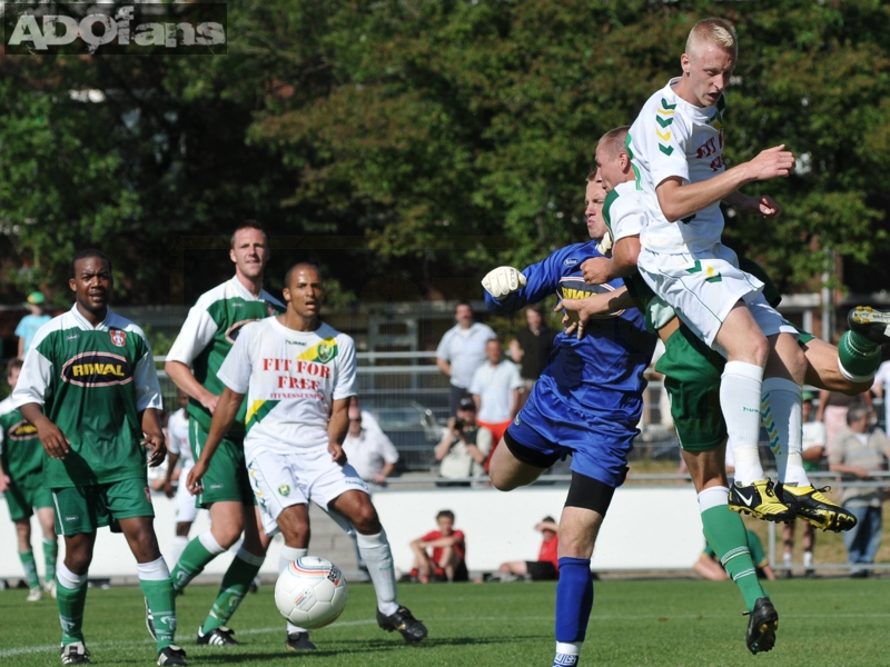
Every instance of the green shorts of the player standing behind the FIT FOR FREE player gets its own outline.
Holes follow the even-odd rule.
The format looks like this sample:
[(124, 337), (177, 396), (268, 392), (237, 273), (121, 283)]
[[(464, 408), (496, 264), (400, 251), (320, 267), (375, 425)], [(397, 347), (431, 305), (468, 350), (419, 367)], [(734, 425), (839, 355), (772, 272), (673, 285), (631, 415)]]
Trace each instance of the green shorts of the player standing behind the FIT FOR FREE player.
[[(197, 461), (208, 432), (194, 417), (188, 419), (188, 444)], [(254, 489), (247, 477), (244, 460), (244, 438), (226, 435), (214, 452), (210, 467), (201, 480), (204, 491), (198, 495), (198, 507), (209, 508), (214, 502), (236, 500), (244, 505), (256, 505)]]

